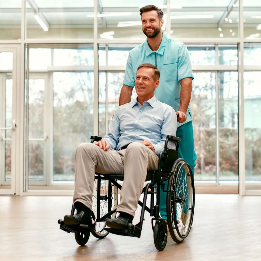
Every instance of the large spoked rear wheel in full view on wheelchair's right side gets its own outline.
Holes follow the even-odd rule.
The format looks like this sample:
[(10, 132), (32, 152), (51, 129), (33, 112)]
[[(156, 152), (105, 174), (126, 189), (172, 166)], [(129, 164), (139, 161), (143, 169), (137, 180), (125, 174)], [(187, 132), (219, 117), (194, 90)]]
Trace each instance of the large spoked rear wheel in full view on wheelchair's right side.
[(172, 239), (181, 243), (189, 235), (195, 206), (195, 187), (191, 168), (182, 158), (175, 161), (168, 180), (167, 220)]

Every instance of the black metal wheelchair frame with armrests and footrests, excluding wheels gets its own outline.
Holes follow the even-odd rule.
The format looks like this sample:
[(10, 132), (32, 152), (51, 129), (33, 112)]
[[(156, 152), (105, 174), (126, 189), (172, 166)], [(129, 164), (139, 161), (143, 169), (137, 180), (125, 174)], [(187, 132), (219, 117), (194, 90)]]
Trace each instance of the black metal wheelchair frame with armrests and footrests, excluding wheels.
[[(91, 143), (93, 143), (95, 141), (97, 142), (101, 139), (102, 139), (102, 137), (91, 136)], [(176, 144), (175, 151), (168, 149), (169, 141)], [(168, 181), (170, 176), (173, 175), (172, 167), (173, 167), (173, 163), (178, 159), (179, 142), (180, 142), (180, 138), (168, 135), (165, 140), (164, 151), (161, 152), (159, 155), (158, 169), (147, 172), (147, 176), (149, 174), (151, 174), (151, 178), (150, 179), (146, 178), (146, 179), (151, 180), (151, 182), (146, 184), (146, 186), (142, 189), (142, 193), (144, 193), (143, 202), (141, 202), (140, 200), (138, 201), (138, 204), (140, 206), (142, 206), (139, 223), (137, 223), (136, 225), (129, 224), (128, 228), (123, 229), (123, 230), (104, 228), (105, 231), (108, 231), (109, 233), (113, 233), (113, 234), (117, 234), (117, 235), (125, 235), (125, 236), (140, 238), (141, 231), (142, 231), (142, 224), (144, 221), (145, 210), (148, 213), (150, 213), (151, 217), (154, 216), (154, 218), (152, 218), (152, 220), (151, 220), (153, 232), (154, 232), (154, 224), (153, 224), (154, 220), (156, 222), (159, 221), (162, 224), (162, 226), (166, 228), (165, 221), (162, 218), (160, 218), (160, 211), (159, 211), (160, 210), (160, 189), (162, 189), (164, 192), (168, 192), (168, 190), (164, 188), (165, 184), (163, 182)], [(101, 181), (108, 180), (108, 182), (109, 182), (108, 183), (108, 195), (112, 195), (112, 184), (115, 185), (118, 189), (122, 189), (122, 186), (117, 182), (117, 179), (122, 180), (122, 179), (119, 179), (119, 177), (123, 178), (124, 175), (117, 175), (117, 174), (103, 175), (101, 173), (95, 172), (95, 180), (97, 180), (97, 213), (96, 213), (96, 217), (95, 217), (95, 214), (92, 211), (92, 218), (95, 221), (94, 227), (90, 227), (88, 225), (83, 225), (83, 224), (65, 225), (62, 220), (58, 220), (58, 223), (60, 224), (60, 229), (67, 231), (68, 233), (70, 233), (70, 232), (73, 232), (73, 233), (92, 232), (95, 230), (96, 222), (104, 222), (107, 218), (110, 218), (117, 211), (117, 206), (115, 206), (115, 208), (113, 210), (110, 210), (111, 206), (112, 206), (112, 201), (110, 200), (110, 197), (107, 197), (107, 195), (105, 196), (107, 198), (105, 198), (104, 196), (101, 196)], [(149, 191), (149, 189), (150, 189), (150, 191)], [(146, 206), (148, 194), (151, 195), (150, 208), (148, 208), (148, 206)], [(156, 205), (154, 205), (154, 194), (156, 194)], [(104, 198), (102, 198), (102, 197), (104, 197)], [(108, 213), (106, 215), (100, 217), (100, 201), (107, 200), (107, 199), (108, 199)], [(75, 211), (74, 206), (72, 206), (70, 215), (74, 215), (74, 211)], [(194, 207), (193, 207), (193, 212), (194, 212)], [(193, 217), (193, 213), (192, 213), (192, 217)], [(165, 233), (164, 236), (167, 236), (166, 232), (164, 232), (164, 233)], [(88, 238), (87, 238), (87, 241), (88, 241)], [(164, 247), (161, 250), (163, 250)]]

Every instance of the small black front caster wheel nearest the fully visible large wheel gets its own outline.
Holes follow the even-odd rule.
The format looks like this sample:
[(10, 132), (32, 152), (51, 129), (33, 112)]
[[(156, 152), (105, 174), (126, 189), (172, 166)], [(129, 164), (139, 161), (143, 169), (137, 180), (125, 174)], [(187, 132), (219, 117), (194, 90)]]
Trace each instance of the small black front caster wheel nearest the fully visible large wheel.
[(157, 250), (162, 251), (167, 244), (168, 239), (168, 231), (167, 231), (167, 225), (166, 222), (161, 222), (159, 220), (156, 221), (154, 226), (154, 244)]

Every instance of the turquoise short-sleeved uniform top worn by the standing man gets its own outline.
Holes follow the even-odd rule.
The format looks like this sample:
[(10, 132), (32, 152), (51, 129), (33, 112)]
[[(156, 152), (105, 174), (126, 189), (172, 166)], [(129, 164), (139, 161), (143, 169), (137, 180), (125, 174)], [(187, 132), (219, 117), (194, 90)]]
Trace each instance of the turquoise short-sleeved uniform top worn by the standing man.
[[(151, 63), (160, 70), (160, 84), (155, 90), (155, 96), (160, 102), (164, 102), (178, 111), (180, 107), (180, 80), (184, 78), (194, 79), (189, 52), (186, 45), (180, 41), (171, 39), (163, 33), (159, 49), (154, 52), (146, 40), (133, 48), (128, 56), (123, 84), (135, 86), (137, 68), (140, 64)], [(186, 112), (185, 124), (192, 120), (191, 107)], [(182, 124), (178, 123), (177, 126)]]

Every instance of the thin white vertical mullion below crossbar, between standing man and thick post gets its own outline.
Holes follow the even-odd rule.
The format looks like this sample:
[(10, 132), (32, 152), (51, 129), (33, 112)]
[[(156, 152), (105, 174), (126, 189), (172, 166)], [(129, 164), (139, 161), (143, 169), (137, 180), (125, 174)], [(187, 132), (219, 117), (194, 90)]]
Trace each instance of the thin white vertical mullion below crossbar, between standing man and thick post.
[(216, 178), (219, 185), (220, 172), (220, 155), (219, 155), (219, 87), (218, 87), (218, 71), (216, 72)]

